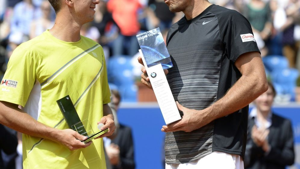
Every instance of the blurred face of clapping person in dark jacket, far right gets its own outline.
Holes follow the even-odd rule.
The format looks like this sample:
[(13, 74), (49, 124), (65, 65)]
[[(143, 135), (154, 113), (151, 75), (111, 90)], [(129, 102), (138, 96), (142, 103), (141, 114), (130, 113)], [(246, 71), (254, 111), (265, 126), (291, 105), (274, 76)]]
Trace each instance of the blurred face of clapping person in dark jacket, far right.
[(257, 109), (260, 112), (270, 112), (274, 100), (274, 95), (275, 93), (269, 85), (268, 90), (254, 100)]

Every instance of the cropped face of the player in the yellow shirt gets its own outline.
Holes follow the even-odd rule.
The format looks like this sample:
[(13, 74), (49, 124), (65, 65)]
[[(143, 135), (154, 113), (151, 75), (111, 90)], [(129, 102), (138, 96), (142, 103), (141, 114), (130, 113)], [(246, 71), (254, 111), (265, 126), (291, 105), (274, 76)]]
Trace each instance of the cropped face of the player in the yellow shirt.
[(84, 24), (94, 20), (95, 8), (100, 0), (74, 0), (75, 15)]

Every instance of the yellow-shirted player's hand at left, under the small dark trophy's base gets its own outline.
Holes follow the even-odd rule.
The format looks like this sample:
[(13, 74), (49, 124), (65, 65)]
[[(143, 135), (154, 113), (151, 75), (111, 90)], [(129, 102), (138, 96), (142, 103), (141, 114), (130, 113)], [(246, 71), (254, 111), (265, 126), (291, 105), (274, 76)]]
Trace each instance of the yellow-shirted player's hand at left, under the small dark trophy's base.
[(55, 141), (65, 145), (70, 150), (86, 148), (92, 144), (92, 141), (84, 144), (80, 140), (86, 140), (87, 137), (80, 135), (72, 129), (59, 130)]

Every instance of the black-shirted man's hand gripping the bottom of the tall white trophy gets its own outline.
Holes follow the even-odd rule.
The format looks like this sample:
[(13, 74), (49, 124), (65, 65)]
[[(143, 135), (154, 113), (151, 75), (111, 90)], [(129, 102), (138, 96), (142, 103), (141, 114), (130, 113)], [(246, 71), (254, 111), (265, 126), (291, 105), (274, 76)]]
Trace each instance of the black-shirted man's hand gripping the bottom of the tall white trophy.
[(203, 118), (200, 116), (200, 111), (194, 109), (188, 109), (178, 102), (176, 102), (178, 110), (183, 112), (183, 117), (180, 121), (163, 126), (161, 131), (174, 132), (174, 131), (185, 131), (191, 132), (205, 125)]

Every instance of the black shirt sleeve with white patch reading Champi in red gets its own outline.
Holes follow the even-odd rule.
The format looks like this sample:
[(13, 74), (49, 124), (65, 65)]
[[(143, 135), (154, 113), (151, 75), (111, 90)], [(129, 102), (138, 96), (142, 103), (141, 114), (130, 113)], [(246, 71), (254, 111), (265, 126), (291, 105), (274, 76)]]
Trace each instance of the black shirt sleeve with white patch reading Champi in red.
[(220, 32), (223, 38), (225, 53), (230, 61), (244, 53), (260, 52), (249, 21), (239, 12), (230, 10), (219, 18)]

